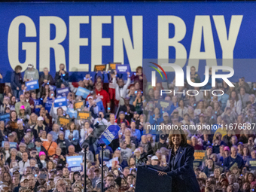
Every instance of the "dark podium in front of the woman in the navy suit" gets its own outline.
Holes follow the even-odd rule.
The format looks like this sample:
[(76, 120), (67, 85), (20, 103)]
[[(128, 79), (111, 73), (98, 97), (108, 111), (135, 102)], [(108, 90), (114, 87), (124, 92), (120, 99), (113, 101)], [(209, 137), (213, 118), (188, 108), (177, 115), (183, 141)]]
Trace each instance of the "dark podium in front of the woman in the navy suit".
[(172, 192), (172, 178), (168, 175), (159, 176), (159, 170), (148, 166), (138, 166), (136, 192)]

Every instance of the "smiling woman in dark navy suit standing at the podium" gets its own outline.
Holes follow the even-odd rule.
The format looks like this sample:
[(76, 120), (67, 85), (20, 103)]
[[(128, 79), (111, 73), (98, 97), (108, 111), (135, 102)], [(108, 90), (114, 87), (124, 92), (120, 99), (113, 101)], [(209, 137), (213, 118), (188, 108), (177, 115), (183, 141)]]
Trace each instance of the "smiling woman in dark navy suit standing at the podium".
[(187, 144), (183, 130), (169, 133), (169, 166), (158, 175), (172, 177), (172, 192), (200, 192), (193, 169), (194, 148)]

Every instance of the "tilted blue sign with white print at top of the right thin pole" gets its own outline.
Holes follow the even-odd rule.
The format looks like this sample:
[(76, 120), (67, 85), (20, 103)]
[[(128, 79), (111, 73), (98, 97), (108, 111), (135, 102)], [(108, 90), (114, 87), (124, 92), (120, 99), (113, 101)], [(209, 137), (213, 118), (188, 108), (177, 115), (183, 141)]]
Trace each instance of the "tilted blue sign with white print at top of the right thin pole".
[(117, 136), (119, 130), (120, 127), (117, 125), (108, 126), (108, 128), (105, 129), (105, 131), (99, 137), (99, 143), (109, 145), (113, 141), (115, 136)]

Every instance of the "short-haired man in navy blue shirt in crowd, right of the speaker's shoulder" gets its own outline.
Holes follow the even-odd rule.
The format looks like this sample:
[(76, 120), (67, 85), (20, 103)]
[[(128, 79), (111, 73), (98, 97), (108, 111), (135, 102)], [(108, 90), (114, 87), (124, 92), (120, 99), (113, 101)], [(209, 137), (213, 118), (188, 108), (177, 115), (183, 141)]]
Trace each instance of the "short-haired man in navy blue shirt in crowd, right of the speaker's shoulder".
[(242, 169), (242, 166), (245, 165), (244, 160), (237, 154), (237, 148), (235, 145), (231, 147), (231, 154), (229, 157), (226, 157), (223, 162), (223, 166), (229, 170), (232, 166), (238, 166), (238, 169)]

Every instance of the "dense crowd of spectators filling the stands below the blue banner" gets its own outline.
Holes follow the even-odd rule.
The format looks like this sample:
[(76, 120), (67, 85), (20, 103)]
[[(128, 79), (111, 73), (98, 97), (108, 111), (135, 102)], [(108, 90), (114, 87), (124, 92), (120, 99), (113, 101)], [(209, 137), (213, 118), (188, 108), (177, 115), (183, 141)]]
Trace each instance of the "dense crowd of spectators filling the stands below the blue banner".
[[(69, 82), (65, 68), (60, 64), (52, 77), (47, 68), (39, 75), (32, 64), (22, 75), (22, 67), (17, 66), (11, 86), (5, 85), (0, 96), (0, 191), (81, 192), (84, 179), (87, 191), (100, 191), (102, 185), (107, 192), (135, 191), (137, 166), (148, 151), (154, 154), (146, 164), (156, 169), (168, 166), (169, 130), (148, 128), (158, 125), (194, 127), (184, 133), (194, 147), (194, 172), (202, 192), (256, 190), (256, 84), (248, 85), (245, 78), (234, 82), (235, 87), (217, 82), (216, 87), (206, 84), (203, 89), (222, 90), (222, 96), (212, 96), (198, 87), (194, 89), (199, 94), (188, 96), (173, 94), (173, 90), (191, 89), (188, 84), (175, 87), (171, 82), (167, 86), (172, 91), (161, 96), (163, 84), (151, 87), (140, 66), (133, 73), (87, 74), (78, 84)], [(194, 67), (190, 79), (201, 82)], [(25, 83), (35, 80), (39, 89), (28, 91)], [(78, 87), (90, 90), (87, 98), (76, 95)], [(66, 88), (67, 105), (55, 107), (54, 100), (61, 97), (56, 89)], [(88, 120), (67, 114), (81, 101), (84, 106), (80, 110), (90, 111)], [(160, 105), (161, 101), (169, 107)], [(5, 114), (10, 115), (6, 118)], [(71, 123), (59, 124), (59, 117), (69, 118)], [(100, 125), (120, 126), (111, 144), (104, 146), (103, 157), (98, 143), (86, 149), (83, 146)], [(217, 125), (217, 129), (199, 130), (198, 125)], [(80, 170), (72, 171), (67, 157), (84, 157), (84, 153), (86, 174), (84, 163)]]

